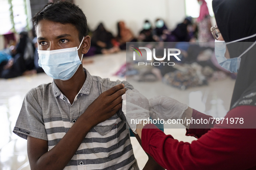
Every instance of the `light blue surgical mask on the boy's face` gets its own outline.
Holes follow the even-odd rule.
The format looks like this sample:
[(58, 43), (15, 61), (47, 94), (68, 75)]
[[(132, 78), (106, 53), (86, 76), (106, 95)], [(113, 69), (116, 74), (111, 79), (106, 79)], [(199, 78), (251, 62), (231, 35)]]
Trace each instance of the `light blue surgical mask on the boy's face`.
[[(84, 38), (81, 42), (83, 43)], [(82, 59), (78, 56), (79, 47), (59, 50), (38, 50), (38, 65), (53, 79), (68, 80), (74, 76)]]

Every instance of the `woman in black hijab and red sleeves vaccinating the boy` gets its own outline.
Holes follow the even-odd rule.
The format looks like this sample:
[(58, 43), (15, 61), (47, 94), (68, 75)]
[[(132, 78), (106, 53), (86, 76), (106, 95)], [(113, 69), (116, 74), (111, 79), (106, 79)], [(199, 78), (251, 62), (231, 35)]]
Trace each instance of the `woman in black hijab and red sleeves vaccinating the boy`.
[[(239, 41), (233, 47), (228, 44), (230, 57), (243, 54), (230, 110), (224, 119), (214, 120), (169, 97), (148, 100), (134, 89), (122, 96), (128, 123), (142, 139), (143, 149), (167, 170), (256, 169), (256, 1), (213, 0), (212, 4), (224, 41)], [(147, 120), (149, 116), (165, 121), (182, 120), (186, 135), (198, 140), (179, 142), (153, 124), (129, 122)], [(185, 121), (193, 119), (203, 121)]]

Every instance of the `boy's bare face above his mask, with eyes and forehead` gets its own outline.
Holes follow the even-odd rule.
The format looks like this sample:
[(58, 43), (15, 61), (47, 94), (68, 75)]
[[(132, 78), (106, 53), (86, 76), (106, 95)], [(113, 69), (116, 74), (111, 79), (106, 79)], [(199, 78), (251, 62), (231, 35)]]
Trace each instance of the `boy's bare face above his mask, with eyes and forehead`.
[[(36, 28), (38, 50), (79, 47), (79, 32), (72, 24), (41, 20)], [(83, 44), (78, 50), (81, 59)]]

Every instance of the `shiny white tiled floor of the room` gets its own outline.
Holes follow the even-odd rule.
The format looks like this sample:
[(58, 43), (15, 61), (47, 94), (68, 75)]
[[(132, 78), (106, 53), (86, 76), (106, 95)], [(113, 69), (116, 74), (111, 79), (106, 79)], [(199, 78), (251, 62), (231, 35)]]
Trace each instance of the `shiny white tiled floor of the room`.
[[(125, 63), (126, 54), (100, 55), (88, 57), (85, 60), (93, 60), (93, 63), (84, 64), (91, 75), (109, 77), (110, 80), (124, 80), (125, 78), (113, 76), (120, 65)], [(162, 84), (162, 82), (140, 83), (128, 79), (142, 94), (150, 98), (154, 95), (166, 95), (177, 99), (190, 107), (212, 116), (225, 115), (233, 91), (234, 80), (227, 78), (217, 82), (211, 82), (207, 86), (189, 88), (181, 91)], [(12, 130), (27, 91), (42, 83), (52, 82), (52, 78), (44, 73), (23, 76), (14, 79), (0, 79), (0, 170), (29, 170), (26, 155), (26, 140), (20, 139), (13, 134)], [(195, 140), (185, 136), (185, 129), (165, 129), (166, 134), (173, 135), (176, 139), (184, 142)], [(133, 151), (137, 158), (140, 169), (146, 163), (146, 154), (135, 138), (131, 138)]]

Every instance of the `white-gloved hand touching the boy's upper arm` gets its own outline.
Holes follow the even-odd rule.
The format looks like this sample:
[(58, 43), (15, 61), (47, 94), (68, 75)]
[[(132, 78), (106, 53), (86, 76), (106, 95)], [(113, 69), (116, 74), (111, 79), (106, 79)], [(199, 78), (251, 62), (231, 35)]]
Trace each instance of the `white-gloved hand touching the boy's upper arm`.
[(137, 134), (137, 123), (141, 119), (149, 119), (149, 101), (136, 89), (127, 90), (126, 94), (123, 94), (122, 99), (122, 111), (126, 116), (126, 121), (133, 132)]

